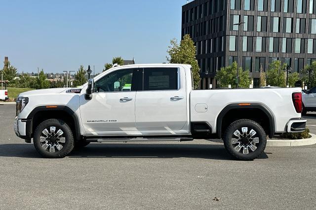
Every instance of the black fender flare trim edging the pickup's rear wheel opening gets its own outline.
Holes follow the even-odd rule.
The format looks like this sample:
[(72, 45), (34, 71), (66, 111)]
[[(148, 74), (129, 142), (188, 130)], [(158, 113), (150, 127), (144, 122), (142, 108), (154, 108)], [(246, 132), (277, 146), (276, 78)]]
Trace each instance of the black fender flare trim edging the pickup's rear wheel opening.
[(216, 133), (219, 139), (222, 138), (222, 121), (226, 113), (232, 109), (247, 109), (247, 108), (258, 108), (262, 110), (268, 116), (269, 124), (270, 124), (268, 136), (269, 138), (273, 138), (276, 127), (275, 127), (275, 118), (272, 112), (270, 111), (270, 109), (268, 109), (267, 106), (258, 104), (258, 103), (249, 103), (249, 105), (239, 105), (238, 103), (238, 104), (230, 104), (230, 105), (225, 106), (225, 108), (223, 108), (223, 110), (219, 113), (216, 119)]

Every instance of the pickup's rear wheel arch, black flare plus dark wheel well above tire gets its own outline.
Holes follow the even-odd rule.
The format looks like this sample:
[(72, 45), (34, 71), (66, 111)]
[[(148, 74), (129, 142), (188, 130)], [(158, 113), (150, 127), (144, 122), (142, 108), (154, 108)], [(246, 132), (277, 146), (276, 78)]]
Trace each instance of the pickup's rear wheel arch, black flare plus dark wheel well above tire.
[[(256, 112), (259, 112), (260, 114), (257, 116), (253, 115)], [(244, 116), (242, 119), (251, 119), (254, 121), (262, 119), (263, 124), (261, 124), (261, 126), (265, 129), (269, 138), (274, 136), (275, 118), (270, 109), (268, 109), (265, 105), (258, 103), (238, 103), (227, 105), (219, 113), (216, 119), (216, 133), (218, 138), (222, 138), (223, 132), (226, 127), (229, 126), (227, 125), (228, 123), (241, 119), (241, 116)]]

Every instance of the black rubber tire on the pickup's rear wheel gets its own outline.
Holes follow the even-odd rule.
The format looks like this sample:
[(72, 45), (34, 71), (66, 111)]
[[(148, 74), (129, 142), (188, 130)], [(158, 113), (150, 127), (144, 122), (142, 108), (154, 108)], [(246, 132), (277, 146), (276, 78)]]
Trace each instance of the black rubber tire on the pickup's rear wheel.
[[(246, 135), (244, 138), (239, 137), (240, 141), (233, 144), (234, 133), (239, 129), (241, 130), (243, 127), (246, 127), (248, 129), (248, 132), (245, 132)], [(251, 136), (251, 137), (259, 138), (259, 139), (257, 139), (257, 140), (259, 140), (258, 143), (253, 143), (251, 138), (248, 138), (250, 135), (247, 135), (247, 133), (250, 134), (251, 129), (256, 132), (256, 134), (254, 136)], [(242, 134), (243, 134), (243, 131), (242, 131)], [(264, 152), (266, 145), (267, 145), (266, 132), (263, 130), (263, 128), (257, 122), (255, 122), (253, 120), (249, 120), (249, 119), (241, 119), (241, 120), (237, 120), (237, 121), (233, 122), (226, 129), (223, 140), (224, 140), (224, 145), (225, 145), (225, 148), (227, 149), (227, 151), (235, 159), (244, 160), (244, 161), (254, 160), (254, 159), (258, 158)], [(250, 141), (252, 141), (251, 144), (245, 143), (245, 142), (250, 142)], [(254, 151), (252, 151), (252, 149), (249, 146), (249, 145), (253, 145), (253, 144), (256, 147), (256, 149)], [(241, 145), (240, 147), (243, 148), (242, 150), (245, 150), (246, 152), (249, 152), (249, 153), (244, 154), (244, 151), (237, 151), (238, 148), (235, 149), (235, 147), (237, 147), (238, 145)], [(245, 146), (243, 146), (243, 145), (245, 145)], [(247, 149), (244, 149), (245, 147)]]

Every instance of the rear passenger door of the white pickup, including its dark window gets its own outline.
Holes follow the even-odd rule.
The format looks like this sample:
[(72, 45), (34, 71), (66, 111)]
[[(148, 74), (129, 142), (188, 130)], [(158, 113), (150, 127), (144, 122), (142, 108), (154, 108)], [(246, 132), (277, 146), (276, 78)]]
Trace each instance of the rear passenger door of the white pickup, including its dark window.
[(135, 103), (137, 130), (143, 135), (187, 134), (185, 71), (164, 67), (143, 68), (142, 73)]

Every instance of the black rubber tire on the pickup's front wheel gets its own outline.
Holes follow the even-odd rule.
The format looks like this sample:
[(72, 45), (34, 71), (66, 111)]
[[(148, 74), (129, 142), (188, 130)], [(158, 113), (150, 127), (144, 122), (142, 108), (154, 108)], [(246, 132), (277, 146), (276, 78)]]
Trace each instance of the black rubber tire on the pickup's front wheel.
[[(43, 136), (42, 132), (50, 127), (55, 127), (57, 131), (61, 130), (63, 132), (62, 136), (65, 138), (65, 143), (63, 147), (55, 152), (50, 152), (47, 149), (44, 149), (42, 146), (43, 142), (40, 142), (40, 136)], [(53, 133), (53, 132), (51, 132)], [(48, 139), (48, 138), (47, 138)], [(66, 157), (74, 148), (74, 136), (70, 127), (63, 120), (60, 119), (49, 119), (45, 120), (36, 128), (33, 138), (34, 146), (36, 150), (46, 158), (64, 158)], [(44, 143), (43, 143), (44, 144)], [(53, 146), (54, 147), (54, 146)], [(54, 148), (55, 149), (55, 148)]]

